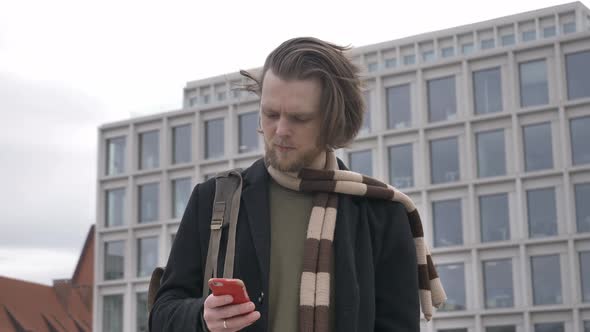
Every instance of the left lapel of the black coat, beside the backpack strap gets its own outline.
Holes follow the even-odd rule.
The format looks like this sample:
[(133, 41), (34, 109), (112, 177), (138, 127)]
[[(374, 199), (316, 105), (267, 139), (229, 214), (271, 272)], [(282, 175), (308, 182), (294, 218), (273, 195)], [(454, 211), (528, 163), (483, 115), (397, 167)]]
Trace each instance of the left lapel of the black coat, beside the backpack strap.
[(244, 176), (242, 201), (248, 215), (248, 223), (265, 291), (268, 290), (270, 270), (270, 212), (268, 207), (269, 175), (262, 159), (249, 167)]

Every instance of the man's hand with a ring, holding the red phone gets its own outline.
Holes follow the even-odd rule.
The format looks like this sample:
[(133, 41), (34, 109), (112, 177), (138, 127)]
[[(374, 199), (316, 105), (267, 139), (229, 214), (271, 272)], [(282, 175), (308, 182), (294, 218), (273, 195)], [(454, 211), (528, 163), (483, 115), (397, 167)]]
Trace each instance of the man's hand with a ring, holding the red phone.
[(232, 301), (231, 295), (215, 296), (210, 294), (205, 299), (203, 318), (211, 332), (239, 331), (260, 318), (260, 313), (254, 311), (256, 306), (252, 301), (231, 304)]

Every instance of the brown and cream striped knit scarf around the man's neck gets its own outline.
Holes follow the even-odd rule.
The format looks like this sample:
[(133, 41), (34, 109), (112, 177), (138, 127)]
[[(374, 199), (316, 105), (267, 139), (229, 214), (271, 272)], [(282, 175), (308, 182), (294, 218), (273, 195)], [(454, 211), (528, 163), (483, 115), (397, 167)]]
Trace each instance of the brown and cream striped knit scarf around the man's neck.
[(416, 245), (418, 286), (422, 313), (432, 318), (433, 306), (446, 299), (445, 291), (424, 241), (422, 222), (412, 200), (393, 186), (361, 174), (338, 169), (334, 152), (322, 153), (323, 169), (304, 168), (299, 173), (274, 169), (267, 163), (273, 179), (291, 190), (313, 192), (313, 208), (307, 226), (303, 273), (299, 298), (299, 330), (319, 332), (328, 330), (330, 306), (330, 260), (336, 227), (338, 194), (366, 196), (401, 202), (408, 213)]

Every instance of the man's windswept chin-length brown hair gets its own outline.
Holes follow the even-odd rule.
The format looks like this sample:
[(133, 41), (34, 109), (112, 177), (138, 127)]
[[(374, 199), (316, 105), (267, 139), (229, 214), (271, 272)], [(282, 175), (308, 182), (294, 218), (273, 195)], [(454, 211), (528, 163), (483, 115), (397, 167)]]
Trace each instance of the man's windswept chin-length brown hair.
[(269, 69), (284, 80), (319, 79), (323, 110), (319, 144), (332, 149), (347, 146), (362, 125), (365, 109), (359, 70), (344, 55), (349, 49), (312, 37), (287, 40), (268, 55), (260, 78), (240, 70), (253, 81), (244, 88), (260, 96)]

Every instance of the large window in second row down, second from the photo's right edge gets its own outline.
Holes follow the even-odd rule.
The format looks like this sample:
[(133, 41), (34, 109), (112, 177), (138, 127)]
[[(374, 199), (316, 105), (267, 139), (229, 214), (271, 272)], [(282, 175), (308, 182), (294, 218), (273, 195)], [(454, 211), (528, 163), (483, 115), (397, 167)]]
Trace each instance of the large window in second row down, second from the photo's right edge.
[(523, 127), (524, 165), (527, 172), (553, 168), (551, 124), (538, 123)]

